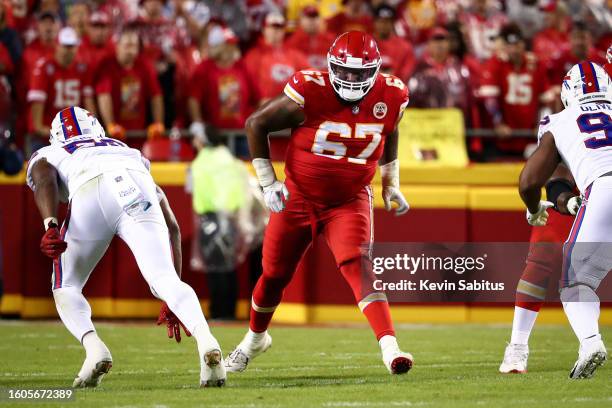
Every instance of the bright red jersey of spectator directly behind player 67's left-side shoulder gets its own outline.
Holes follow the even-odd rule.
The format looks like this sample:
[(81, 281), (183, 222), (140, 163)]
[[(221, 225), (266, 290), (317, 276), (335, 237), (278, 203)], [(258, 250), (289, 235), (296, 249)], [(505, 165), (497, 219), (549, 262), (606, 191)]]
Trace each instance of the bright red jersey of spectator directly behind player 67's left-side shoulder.
[(244, 62), (256, 86), (258, 100), (278, 96), (295, 71), (308, 67), (301, 52), (288, 47), (271, 47), (263, 41), (247, 53)]

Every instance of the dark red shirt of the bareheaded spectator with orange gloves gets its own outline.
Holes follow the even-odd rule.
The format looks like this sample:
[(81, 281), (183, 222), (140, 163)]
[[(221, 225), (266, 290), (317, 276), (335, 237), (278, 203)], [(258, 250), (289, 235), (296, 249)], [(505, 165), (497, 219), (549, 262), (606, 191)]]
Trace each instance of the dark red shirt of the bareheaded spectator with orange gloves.
[(122, 67), (114, 57), (102, 64), (96, 93), (111, 95), (115, 122), (128, 130), (144, 129), (147, 104), (161, 95), (155, 69), (144, 58), (138, 58), (131, 68)]

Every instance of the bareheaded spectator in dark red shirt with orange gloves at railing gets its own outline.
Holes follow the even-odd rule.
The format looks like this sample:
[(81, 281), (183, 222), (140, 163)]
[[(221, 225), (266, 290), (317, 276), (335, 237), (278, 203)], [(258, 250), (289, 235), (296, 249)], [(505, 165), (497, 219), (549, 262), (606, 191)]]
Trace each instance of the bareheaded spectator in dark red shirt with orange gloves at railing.
[(151, 104), (153, 123), (147, 128), (150, 138), (164, 132), (164, 102), (155, 69), (143, 58), (138, 29), (128, 26), (119, 36), (115, 55), (102, 62), (96, 84), (100, 116), (111, 137), (124, 139), (126, 130), (147, 127), (147, 103)]

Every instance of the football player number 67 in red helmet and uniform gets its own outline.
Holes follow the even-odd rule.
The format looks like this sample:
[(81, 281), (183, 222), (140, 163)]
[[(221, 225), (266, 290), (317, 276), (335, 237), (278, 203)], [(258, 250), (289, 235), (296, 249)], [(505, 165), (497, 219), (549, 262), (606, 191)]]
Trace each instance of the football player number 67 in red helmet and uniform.
[[(283, 94), (247, 120), (253, 166), (273, 214), (264, 237), (263, 274), (253, 290), (250, 328), (225, 362), (229, 371), (243, 371), (270, 347), (272, 314), (318, 234), (368, 319), (387, 369), (402, 374), (412, 366), (412, 356), (397, 344), (385, 294), (367, 283), (371, 271), (362, 267), (373, 237), (370, 182), (377, 164), (387, 210), (392, 202), (398, 204), (397, 215), (409, 208), (400, 192), (397, 160), (397, 124), (408, 90), (400, 79), (378, 74), (380, 53), (369, 34), (340, 35), (327, 59), (329, 72), (297, 72)], [(292, 135), (283, 183), (269, 160), (267, 135), (287, 128)]]

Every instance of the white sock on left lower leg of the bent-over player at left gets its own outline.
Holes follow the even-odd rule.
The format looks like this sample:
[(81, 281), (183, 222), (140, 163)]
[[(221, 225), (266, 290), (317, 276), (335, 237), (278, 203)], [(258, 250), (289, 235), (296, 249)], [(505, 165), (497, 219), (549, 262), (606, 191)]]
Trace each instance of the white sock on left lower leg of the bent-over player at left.
[(91, 321), (91, 307), (79, 289), (74, 287), (54, 289), (53, 298), (60, 319), (79, 343), (85, 333), (95, 331)]

